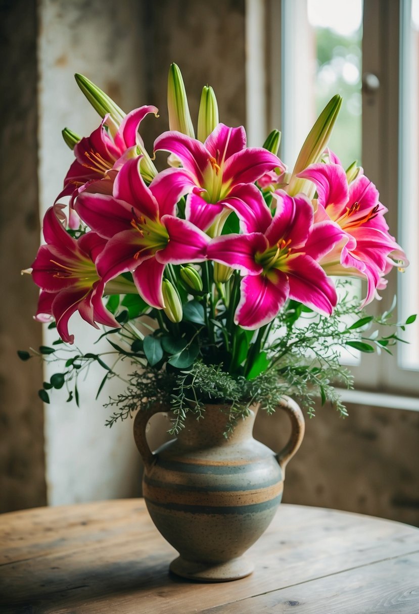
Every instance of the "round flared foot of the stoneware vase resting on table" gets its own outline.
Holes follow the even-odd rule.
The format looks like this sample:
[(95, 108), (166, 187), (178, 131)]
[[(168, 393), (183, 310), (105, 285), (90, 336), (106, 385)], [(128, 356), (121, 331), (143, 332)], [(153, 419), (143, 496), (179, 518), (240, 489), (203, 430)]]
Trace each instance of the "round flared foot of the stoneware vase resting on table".
[(254, 570), (254, 565), (245, 556), (222, 563), (187, 561), (178, 556), (170, 564), (170, 571), (182, 578), (198, 582), (229, 582), (245, 578)]

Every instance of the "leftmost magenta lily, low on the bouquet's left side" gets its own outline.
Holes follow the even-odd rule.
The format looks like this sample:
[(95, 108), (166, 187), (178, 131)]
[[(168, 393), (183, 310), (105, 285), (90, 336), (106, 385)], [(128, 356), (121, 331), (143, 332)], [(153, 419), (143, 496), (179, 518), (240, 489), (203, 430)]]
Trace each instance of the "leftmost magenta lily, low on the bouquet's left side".
[(68, 321), (75, 311), (95, 328), (96, 322), (112, 327), (119, 324), (104, 308), (104, 283), (95, 266), (106, 241), (95, 232), (76, 241), (60, 221), (62, 208), (63, 205), (55, 205), (46, 212), (43, 227), (46, 245), (39, 247), (32, 265), (33, 280), (42, 290), (35, 319), (47, 322), (53, 317), (61, 339), (73, 343)]

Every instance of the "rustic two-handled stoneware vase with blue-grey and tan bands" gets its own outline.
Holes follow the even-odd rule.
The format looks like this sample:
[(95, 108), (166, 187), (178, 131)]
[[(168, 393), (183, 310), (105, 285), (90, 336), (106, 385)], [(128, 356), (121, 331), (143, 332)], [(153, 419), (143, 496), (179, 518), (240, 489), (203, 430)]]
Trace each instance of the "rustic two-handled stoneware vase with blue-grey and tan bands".
[(177, 575), (200, 581), (237, 580), (253, 571), (243, 553), (267, 529), (281, 502), (284, 470), (304, 434), (299, 406), (279, 408), (291, 419), (291, 437), (274, 453), (253, 438), (258, 406), (224, 437), (228, 406), (206, 405), (205, 418), (187, 415), (176, 439), (152, 453), (147, 422), (161, 405), (139, 411), (134, 437), (144, 461), (143, 495), (152, 521), (179, 552)]

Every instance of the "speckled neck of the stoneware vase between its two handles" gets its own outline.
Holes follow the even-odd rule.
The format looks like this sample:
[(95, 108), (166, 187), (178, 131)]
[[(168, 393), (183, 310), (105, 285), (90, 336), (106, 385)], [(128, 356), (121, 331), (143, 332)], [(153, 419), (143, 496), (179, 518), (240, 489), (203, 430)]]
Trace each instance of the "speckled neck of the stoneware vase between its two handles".
[(231, 445), (252, 437), (254, 420), (259, 405), (254, 405), (249, 416), (239, 418), (229, 437), (225, 437), (229, 421), (229, 405), (205, 405), (203, 418), (188, 413), (185, 427), (178, 434), (178, 440), (185, 446), (210, 447), (214, 445)]

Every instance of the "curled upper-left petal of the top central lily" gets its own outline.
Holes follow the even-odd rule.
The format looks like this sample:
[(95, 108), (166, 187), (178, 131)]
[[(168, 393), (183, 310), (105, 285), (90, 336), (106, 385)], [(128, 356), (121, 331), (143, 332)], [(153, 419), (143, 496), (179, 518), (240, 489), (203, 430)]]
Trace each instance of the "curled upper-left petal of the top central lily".
[(160, 149), (174, 153), (181, 160), (182, 166), (192, 173), (199, 185), (202, 185), (203, 173), (207, 168), (211, 168), (211, 153), (200, 141), (172, 130), (163, 132), (154, 141), (154, 150)]

